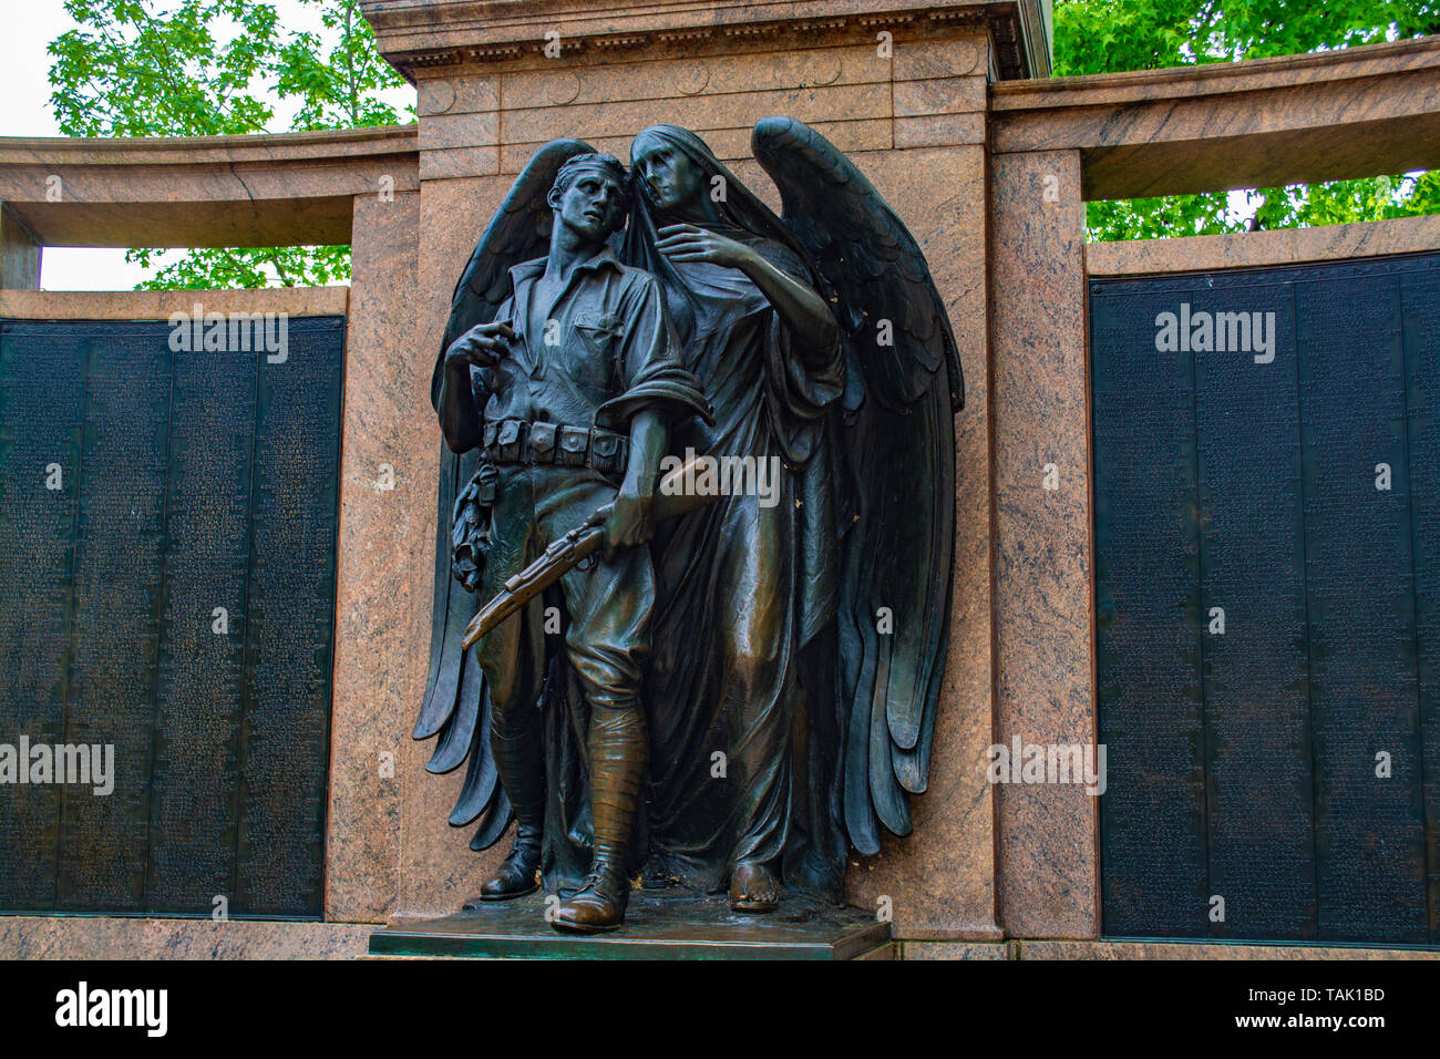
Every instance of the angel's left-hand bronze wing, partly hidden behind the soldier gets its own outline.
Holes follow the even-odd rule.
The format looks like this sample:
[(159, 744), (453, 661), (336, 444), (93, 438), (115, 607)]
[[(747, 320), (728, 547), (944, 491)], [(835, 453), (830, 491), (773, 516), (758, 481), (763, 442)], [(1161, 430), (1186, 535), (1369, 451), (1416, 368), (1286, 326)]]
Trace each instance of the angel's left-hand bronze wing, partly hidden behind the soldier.
[[(580, 140), (553, 140), (526, 164), (494, 219), (469, 255), (455, 284), (445, 324), (431, 405), (439, 408), (445, 350), (475, 324), (490, 323), (510, 294), (510, 268), (544, 256), (550, 245), (552, 210), (546, 196), (566, 160), (593, 150)], [(464, 827), (480, 820), (471, 849), (482, 850), (505, 833), (510, 800), (490, 755), (490, 694), (480, 663), (461, 647), (465, 625), (481, 601), (451, 576), (451, 516), (455, 499), (478, 468), (477, 452), (456, 455), (441, 447), (439, 506), (435, 514), (435, 604), (431, 625), (431, 669), (425, 702), (412, 732), (416, 739), (439, 736), (426, 768), (451, 772), (469, 759), (465, 782), (449, 823)]]

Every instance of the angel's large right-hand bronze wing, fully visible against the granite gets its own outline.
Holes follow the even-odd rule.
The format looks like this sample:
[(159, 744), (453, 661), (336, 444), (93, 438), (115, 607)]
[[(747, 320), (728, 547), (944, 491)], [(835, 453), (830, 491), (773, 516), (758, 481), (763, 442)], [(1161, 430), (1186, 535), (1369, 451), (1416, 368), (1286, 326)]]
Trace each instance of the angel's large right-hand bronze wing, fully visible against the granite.
[(907, 794), (929, 779), (950, 624), (953, 414), (965, 382), (924, 255), (870, 180), (793, 118), (763, 118), (750, 147), (845, 333), (842, 434), (857, 510), (838, 617), (844, 811), (855, 849), (876, 853), (880, 824), (910, 833)]

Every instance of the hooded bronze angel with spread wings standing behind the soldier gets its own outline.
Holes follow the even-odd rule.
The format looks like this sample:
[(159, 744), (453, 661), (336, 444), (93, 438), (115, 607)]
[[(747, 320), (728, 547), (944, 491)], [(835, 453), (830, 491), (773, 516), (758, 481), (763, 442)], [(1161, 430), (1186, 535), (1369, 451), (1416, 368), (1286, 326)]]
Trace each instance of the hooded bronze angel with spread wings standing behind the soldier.
[[(642, 886), (727, 890), (732, 908), (756, 913), (785, 890), (838, 901), (850, 847), (876, 853), (881, 827), (912, 830), (949, 631), (963, 382), (924, 256), (854, 163), (791, 118), (756, 124), (752, 148), (782, 216), (696, 134), (647, 128), (631, 148), (629, 223), (613, 241), (625, 265), (655, 278), (681, 367), (710, 403), (670, 419), (668, 451), (759, 468), (732, 486), (773, 475), (769, 488), (730, 488), (652, 527), (649, 751), (631, 869)], [(546, 193), (583, 151), (554, 141), (520, 174), (456, 285), (442, 359), (494, 318), (507, 269), (544, 254)], [(485, 480), (474, 454), (446, 454), (415, 729), (439, 736), (432, 772), (468, 759), (451, 823), (480, 821), (477, 850), (516, 813), (485, 735), (495, 709), (461, 635), (485, 604), (465, 591), (492, 546), (472, 513)], [(527, 607), (541, 614), (554, 591)], [(585, 885), (595, 841), (592, 710), (564, 631), (527, 627), (544, 628), (517, 644), (540, 689), (541, 875), (564, 895)], [(517, 834), (527, 830), (521, 821)]]

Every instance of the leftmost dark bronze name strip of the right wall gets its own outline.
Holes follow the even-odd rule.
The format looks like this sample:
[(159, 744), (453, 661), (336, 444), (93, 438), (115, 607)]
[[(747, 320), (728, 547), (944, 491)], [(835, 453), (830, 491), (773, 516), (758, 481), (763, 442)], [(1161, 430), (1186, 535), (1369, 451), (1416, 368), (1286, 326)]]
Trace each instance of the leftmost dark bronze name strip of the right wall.
[(1096, 349), (1113, 350), (1094, 360), (1100, 741), (1116, 748), (1103, 915), (1112, 932), (1202, 937), (1194, 369), (1135, 340), (1153, 311), (1102, 292), (1092, 305)]

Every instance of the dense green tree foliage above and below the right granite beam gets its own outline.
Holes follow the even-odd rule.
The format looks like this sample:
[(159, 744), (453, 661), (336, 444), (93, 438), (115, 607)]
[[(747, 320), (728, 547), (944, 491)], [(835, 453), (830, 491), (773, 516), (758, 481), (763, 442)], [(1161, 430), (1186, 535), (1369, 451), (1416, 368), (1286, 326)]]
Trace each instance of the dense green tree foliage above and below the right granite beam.
[[(1056, 73), (1264, 59), (1440, 33), (1440, 0), (1057, 0)], [(1155, 239), (1440, 213), (1436, 173), (1092, 202), (1092, 239)], [(1253, 212), (1253, 220), (1244, 213)]]

